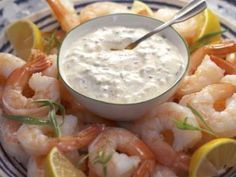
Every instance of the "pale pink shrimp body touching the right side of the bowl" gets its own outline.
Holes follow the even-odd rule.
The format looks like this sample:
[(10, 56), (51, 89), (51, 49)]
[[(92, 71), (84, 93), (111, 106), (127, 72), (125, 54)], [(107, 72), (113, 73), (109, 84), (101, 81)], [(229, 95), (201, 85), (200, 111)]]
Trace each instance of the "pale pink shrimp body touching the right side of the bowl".
[(224, 77), (224, 70), (206, 56), (192, 75), (187, 75), (181, 83), (176, 95), (182, 97), (198, 92), (207, 85), (218, 83)]

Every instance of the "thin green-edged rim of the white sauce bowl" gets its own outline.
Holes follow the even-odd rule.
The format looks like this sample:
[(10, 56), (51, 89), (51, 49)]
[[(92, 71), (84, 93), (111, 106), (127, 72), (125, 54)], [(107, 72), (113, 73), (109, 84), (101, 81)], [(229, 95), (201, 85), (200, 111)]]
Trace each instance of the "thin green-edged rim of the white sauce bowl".
[(186, 41), (184, 40), (184, 38), (172, 27), (172, 26), (169, 26), (168, 28), (171, 28), (175, 34), (180, 38), (180, 41), (183, 42), (184, 46), (185, 46), (185, 49), (186, 49), (186, 52), (187, 52), (187, 61), (186, 61), (186, 65), (185, 65), (185, 69), (184, 71), (182, 72), (181, 76), (173, 83), (173, 85), (171, 85), (168, 89), (166, 89), (163, 93), (155, 96), (155, 97), (152, 97), (150, 99), (146, 99), (144, 101), (139, 101), (139, 102), (134, 102), (134, 103), (112, 103), (112, 102), (107, 102), (107, 101), (103, 101), (103, 100), (99, 100), (99, 99), (96, 99), (96, 98), (92, 98), (92, 97), (89, 97), (89, 96), (86, 96), (80, 92), (78, 92), (77, 90), (73, 89), (70, 84), (68, 84), (65, 79), (63, 78), (62, 74), (61, 74), (61, 69), (60, 69), (60, 62), (59, 62), (59, 58), (60, 58), (60, 53), (61, 53), (61, 47), (64, 43), (64, 41), (67, 39), (67, 37), (70, 35), (70, 33), (72, 31), (74, 31), (75, 29), (85, 25), (85, 24), (88, 24), (88, 23), (91, 23), (91, 22), (94, 22), (98, 19), (101, 19), (101, 18), (107, 18), (107, 17), (112, 17), (112, 16), (137, 16), (138, 18), (141, 17), (141, 18), (146, 18), (148, 20), (153, 20), (153, 21), (158, 21), (158, 22), (161, 22), (161, 23), (164, 23), (163, 21), (161, 20), (158, 20), (158, 19), (155, 19), (155, 18), (152, 18), (152, 17), (148, 17), (148, 16), (143, 16), (143, 15), (138, 15), (138, 14), (131, 14), (131, 13), (116, 13), (116, 14), (109, 14), (109, 15), (104, 15), (104, 16), (100, 16), (100, 17), (96, 17), (96, 18), (93, 18), (93, 19), (90, 19), (82, 24), (79, 24), (77, 26), (75, 26), (74, 28), (72, 28), (69, 32), (66, 33), (64, 39), (62, 40), (60, 46), (59, 46), (59, 50), (58, 50), (58, 54), (57, 54), (57, 68), (58, 68), (58, 78), (62, 80), (62, 82), (66, 85), (67, 88), (69, 88), (72, 92), (74, 92), (75, 94), (79, 95), (79, 96), (82, 96), (86, 99), (90, 99), (90, 100), (93, 100), (95, 102), (100, 102), (102, 104), (107, 104), (107, 105), (114, 105), (114, 106), (131, 106), (131, 105), (140, 105), (140, 104), (144, 104), (144, 103), (147, 103), (147, 102), (150, 102), (150, 101), (153, 101), (155, 99), (157, 99), (158, 97), (161, 97), (163, 95), (165, 95), (167, 92), (169, 92), (172, 88), (174, 88), (176, 85), (179, 84), (179, 82), (183, 79), (183, 77), (185, 76), (187, 70), (188, 70), (188, 67), (189, 67), (189, 61), (190, 61), (190, 52), (189, 52), (189, 48), (188, 48), (188, 45), (186, 43)]

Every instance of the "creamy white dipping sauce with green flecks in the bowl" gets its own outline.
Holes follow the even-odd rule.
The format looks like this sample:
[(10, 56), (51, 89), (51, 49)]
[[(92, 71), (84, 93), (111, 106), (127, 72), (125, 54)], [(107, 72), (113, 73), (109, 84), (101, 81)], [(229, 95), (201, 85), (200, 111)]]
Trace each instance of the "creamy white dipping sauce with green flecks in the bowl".
[(79, 93), (109, 103), (136, 103), (160, 95), (184, 72), (185, 61), (160, 35), (133, 50), (122, 49), (147, 32), (104, 27), (75, 40), (62, 58), (63, 78)]

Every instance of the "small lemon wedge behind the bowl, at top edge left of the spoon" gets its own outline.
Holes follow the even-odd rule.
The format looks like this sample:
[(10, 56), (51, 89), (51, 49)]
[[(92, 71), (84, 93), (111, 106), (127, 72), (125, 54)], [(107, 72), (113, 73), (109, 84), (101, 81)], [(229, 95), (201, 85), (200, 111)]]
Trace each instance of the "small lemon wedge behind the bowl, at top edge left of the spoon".
[(137, 0), (133, 2), (131, 11), (139, 15), (154, 16), (152, 9), (147, 4)]

